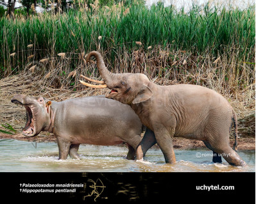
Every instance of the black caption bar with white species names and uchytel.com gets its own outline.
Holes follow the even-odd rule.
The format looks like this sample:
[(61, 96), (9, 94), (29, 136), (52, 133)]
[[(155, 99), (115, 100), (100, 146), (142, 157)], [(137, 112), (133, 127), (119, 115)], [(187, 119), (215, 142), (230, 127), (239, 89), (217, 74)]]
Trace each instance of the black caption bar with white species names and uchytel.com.
[[(0, 173), (6, 201), (255, 203), (255, 173)], [(252, 201), (252, 202), (251, 202)]]

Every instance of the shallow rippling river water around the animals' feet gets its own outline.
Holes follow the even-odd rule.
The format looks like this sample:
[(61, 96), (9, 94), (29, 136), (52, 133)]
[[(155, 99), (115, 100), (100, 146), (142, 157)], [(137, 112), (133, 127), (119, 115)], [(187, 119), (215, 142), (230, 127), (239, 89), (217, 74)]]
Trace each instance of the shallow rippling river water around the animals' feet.
[(149, 149), (143, 161), (128, 161), (125, 159), (127, 152), (125, 146), (80, 145), (81, 160), (68, 157), (59, 161), (56, 143), (0, 139), (0, 171), (255, 171), (255, 150), (238, 152), (248, 164), (246, 167), (230, 166), (224, 159), (222, 164), (214, 164), (211, 162), (212, 152), (205, 149), (176, 149), (175, 164), (166, 164), (158, 148)]

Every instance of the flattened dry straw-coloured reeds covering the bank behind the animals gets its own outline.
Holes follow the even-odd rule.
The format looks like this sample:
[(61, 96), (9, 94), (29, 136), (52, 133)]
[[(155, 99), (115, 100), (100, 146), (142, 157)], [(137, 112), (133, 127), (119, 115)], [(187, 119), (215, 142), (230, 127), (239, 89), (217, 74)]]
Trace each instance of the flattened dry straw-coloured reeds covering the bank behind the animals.
[[(79, 91), (78, 91), (79, 90)], [(0, 115), (1, 124), (10, 124), (13, 129), (19, 130), (24, 127), (26, 123), (26, 111), (22, 106), (15, 106), (10, 102), (15, 93), (22, 93), (25, 95), (41, 95), (42, 97), (55, 100), (57, 102), (66, 100), (68, 98), (87, 97), (92, 95), (105, 95), (109, 90), (97, 90), (93, 88), (84, 88), (77, 84), (76, 90), (69, 90), (67, 88), (53, 88), (47, 84), (39, 75), (33, 75), (28, 72), (19, 75), (13, 75), (0, 79)], [(255, 85), (250, 86), (244, 90), (237, 90), (235, 94), (225, 95), (232, 107), (237, 113), (238, 119), (238, 148), (240, 150), (255, 150)], [(244, 96), (250, 95), (250, 100), (244, 100)], [(0, 126), (1, 130), (7, 130)], [(8, 130), (7, 130), (8, 131)], [(234, 131), (232, 129), (232, 131)], [(56, 141), (53, 134), (42, 132), (36, 137), (22, 136), (21, 132), (15, 135), (2, 134), (0, 132), (0, 139), (19, 139), (23, 141), (37, 141), (47, 142)], [(230, 146), (234, 144), (234, 134), (230, 134)], [(175, 148), (205, 148), (202, 141), (185, 139), (182, 137), (175, 137)], [(157, 145), (156, 145), (157, 146)]]

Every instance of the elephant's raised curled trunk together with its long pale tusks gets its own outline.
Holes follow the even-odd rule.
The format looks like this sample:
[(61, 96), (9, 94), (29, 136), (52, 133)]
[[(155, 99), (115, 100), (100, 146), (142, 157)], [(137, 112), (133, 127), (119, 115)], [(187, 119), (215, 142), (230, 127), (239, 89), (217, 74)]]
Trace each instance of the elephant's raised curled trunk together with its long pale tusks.
[(83, 75), (81, 75), (81, 77), (85, 78), (87, 81), (98, 82), (99, 84), (103, 84), (103, 85), (92, 85), (92, 84), (88, 84), (84, 81), (80, 81), (80, 82), (82, 84), (84, 84), (86, 86), (90, 86), (92, 88), (105, 88), (105, 87), (107, 87), (111, 84), (111, 81), (113, 80), (115, 74), (108, 71), (107, 67), (105, 66), (105, 63), (103, 61), (103, 58), (102, 58), (101, 54), (97, 51), (92, 51), (87, 55), (87, 58), (86, 58), (87, 63), (90, 62), (90, 58), (92, 56), (94, 56), (96, 58), (97, 67), (99, 69), (99, 73), (100, 73), (100, 75), (103, 79), (103, 82), (102, 81), (97, 81), (97, 80), (94, 80), (94, 79), (89, 79), (89, 78), (87, 78)]

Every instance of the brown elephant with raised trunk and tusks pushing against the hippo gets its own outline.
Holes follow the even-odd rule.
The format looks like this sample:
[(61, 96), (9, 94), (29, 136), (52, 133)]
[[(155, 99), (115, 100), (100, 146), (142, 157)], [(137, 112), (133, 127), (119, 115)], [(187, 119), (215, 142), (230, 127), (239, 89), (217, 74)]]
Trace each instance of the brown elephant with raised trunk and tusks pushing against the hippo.
[[(92, 56), (96, 58), (103, 84), (80, 82), (92, 88), (110, 89), (106, 97), (130, 105), (142, 124), (148, 128), (148, 134), (137, 147), (137, 159), (142, 159), (145, 152), (157, 143), (166, 163), (175, 163), (173, 137), (185, 137), (203, 141), (216, 155), (214, 162), (221, 162), (222, 155), (231, 165), (246, 165), (235, 152), (237, 116), (219, 93), (192, 84), (160, 86), (139, 73), (114, 74), (107, 70), (103, 57), (97, 51), (87, 54), (87, 62), (90, 62)], [(234, 150), (230, 147), (229, 139), (232, 123), (235, 129)]]

